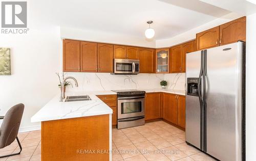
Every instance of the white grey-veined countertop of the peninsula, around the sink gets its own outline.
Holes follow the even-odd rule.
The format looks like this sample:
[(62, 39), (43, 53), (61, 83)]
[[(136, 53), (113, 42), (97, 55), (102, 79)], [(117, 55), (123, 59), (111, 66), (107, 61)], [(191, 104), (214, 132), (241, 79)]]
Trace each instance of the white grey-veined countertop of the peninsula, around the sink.
[(92, 100), (59, 102), (59, 94), (43, 106), (31, 118), (31, 122), (69, 119), (86, 116), (112, 114), (112, 109), (96, 95), (116, 94), (112, 91), (66, 92), (66, 96), (89, 95)]

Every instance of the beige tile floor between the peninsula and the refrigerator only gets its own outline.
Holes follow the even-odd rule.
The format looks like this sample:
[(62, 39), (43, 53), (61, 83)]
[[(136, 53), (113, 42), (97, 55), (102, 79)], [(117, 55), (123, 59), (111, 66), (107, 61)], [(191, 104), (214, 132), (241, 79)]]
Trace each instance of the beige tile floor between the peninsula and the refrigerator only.
[(112, 132), (112, 160), (215, 160), (188, 146), (185, 132), (164, 121)]

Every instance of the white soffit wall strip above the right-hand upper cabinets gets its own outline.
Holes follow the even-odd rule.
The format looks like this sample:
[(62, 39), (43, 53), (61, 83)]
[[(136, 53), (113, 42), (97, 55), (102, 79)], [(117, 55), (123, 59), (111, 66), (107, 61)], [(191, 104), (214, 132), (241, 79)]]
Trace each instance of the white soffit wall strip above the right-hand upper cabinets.
[(161, 40), (156, 40), (156, 47), (169, 47), (173, 46), (176, 44), (180, 44), (192, 39), (196, 39), (196, 34), (200, 33), (202, 31), (214, 28), (215, 26), (218, 26), (220, 24), (229, 22), (231, 20), (237, 19), (239, 17), (242, 17), (243, 15), (239, 15), (236, 13), (229, 13), (221, 18), (217, 18), (213, 21), (210, 21), (208, 23), (205, 23), (201, 26), (198, 26), (197, 28), (191, 29), (185, 33), (182, 33), (180, 35), (174, 36), (172, 38), (168, 39), (161, 39)]

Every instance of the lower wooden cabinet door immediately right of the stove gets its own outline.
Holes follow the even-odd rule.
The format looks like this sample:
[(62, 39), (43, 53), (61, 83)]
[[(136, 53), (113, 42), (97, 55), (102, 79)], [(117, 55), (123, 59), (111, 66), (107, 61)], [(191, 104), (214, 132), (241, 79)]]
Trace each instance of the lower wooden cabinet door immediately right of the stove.
[(159, 119), (161, 99), (160, 93), (146, 93), (145, 95), (145, 120)]

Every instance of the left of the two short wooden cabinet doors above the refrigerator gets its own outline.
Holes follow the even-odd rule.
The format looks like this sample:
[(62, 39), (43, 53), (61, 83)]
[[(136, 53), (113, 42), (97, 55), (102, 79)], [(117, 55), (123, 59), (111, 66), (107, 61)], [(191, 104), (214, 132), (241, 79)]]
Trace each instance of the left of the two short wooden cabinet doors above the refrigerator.
[(197, 34), (197, 50), (219, 46), (220, 26)]

